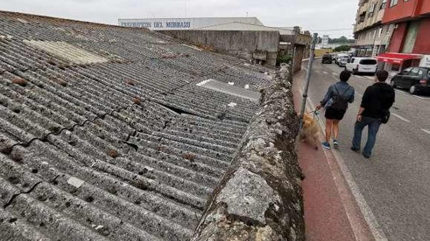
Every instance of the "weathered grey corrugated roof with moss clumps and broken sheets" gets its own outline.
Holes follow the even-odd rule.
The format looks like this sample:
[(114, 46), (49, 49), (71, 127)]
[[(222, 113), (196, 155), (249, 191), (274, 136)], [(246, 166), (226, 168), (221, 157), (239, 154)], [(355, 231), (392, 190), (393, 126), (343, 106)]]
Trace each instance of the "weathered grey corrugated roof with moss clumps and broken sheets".
[(258, 106), (196, 84), (267, 70), (143, 29), (0, 12), (0, 35), (1, 240), (189, 240)]

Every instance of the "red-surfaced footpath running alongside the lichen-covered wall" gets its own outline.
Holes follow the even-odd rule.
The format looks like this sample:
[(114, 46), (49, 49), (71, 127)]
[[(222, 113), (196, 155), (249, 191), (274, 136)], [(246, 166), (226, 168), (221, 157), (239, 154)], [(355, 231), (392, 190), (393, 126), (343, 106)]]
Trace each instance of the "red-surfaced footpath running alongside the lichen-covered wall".
[[(305, 73), (298, 72), (293, 81), (298, 112)], [(315, 150), (305, 143), (300, 143), (297, 151), (306, 177), (302, 188), (307, 241), (374, 241), (333, 152)]]

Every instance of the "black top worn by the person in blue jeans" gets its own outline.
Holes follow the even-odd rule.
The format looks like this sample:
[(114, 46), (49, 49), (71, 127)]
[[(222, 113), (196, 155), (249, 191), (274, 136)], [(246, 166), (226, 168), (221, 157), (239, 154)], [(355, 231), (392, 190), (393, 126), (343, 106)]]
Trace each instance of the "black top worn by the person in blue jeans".
[(361, 107), (365, 109), (362, 115), (380, 119), (394, 103), (395, 93), (391, 86), (385, 82), (377, 82), (367, 87), (363, 95)]

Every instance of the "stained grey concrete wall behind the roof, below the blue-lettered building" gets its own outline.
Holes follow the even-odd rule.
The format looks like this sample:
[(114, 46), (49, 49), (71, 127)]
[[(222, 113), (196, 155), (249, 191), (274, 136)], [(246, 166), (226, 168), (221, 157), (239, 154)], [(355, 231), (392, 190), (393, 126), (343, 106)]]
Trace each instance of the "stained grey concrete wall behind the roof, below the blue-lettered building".
[(278, 57), (280, 42), (278, 31), (162, 30), (157, 32), (197, 46), (212, 46), (216, 50), (250, 61), (261, 60), (266, 66), (275, 66)]

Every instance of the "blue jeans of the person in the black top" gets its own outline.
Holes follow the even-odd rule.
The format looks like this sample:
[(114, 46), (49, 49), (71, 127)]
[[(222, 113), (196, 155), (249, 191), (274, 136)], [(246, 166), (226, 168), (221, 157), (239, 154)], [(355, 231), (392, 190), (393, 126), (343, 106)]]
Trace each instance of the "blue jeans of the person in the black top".
[(352, 139), (352, 148), (360, 150), (361, 146), (361, 135), (363, 129), (368, 126), (367, 142), (363, 149), (363, 155), (370, 157), (372, 154), (372, 148), (375, 146), (376, 134), (378, 133), (381, 121), (367, 116), (362, 116), (361, 121), (357, 121), (354, 127), (354, 138)]

